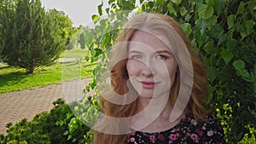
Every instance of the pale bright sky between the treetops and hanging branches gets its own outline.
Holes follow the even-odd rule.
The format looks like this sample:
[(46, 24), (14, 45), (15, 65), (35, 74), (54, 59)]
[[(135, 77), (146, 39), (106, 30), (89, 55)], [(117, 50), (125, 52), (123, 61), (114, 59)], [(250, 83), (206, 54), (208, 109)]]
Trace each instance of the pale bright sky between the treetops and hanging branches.
[[(64, 11), (73, 21), (73, 26), (87, 26), (92, 22), (91, 15), (97, 14), (97, 6), (107, 0), (41, 0), (45, 9)], [(104, 7), (104, 6), (103, 6)]]

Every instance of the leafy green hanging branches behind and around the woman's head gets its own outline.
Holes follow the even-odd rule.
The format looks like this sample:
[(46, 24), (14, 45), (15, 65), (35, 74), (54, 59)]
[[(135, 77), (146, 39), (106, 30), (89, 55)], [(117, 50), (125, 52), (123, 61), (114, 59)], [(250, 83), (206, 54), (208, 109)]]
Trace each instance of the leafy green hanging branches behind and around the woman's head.
[[(136, 9), (138, 13), (170, 15), (183, 26), (195, 50), (208, 65), (211, 95), (207, 103), (217, 110), (224, 124), (226, 141), (248, 143), (255, 140), (255, 1), (140, 0), (140, 7), (137, 7), (135, 0), (108, 0), (108, 4), (105, 11), (102, 4), (98, 6), (98, 14), (92, 15), (95, 32), (85, 34), (85, 37), (92, 37), (86, 41), (91, 52), (87, 59), (101, 61), (94, 70), (95, 78), (104, 71), (108, 51), (132, 10), (133, 14)], [(105, 12), (108, 19), (102, 16)], [(113, 14), (116, 17), (113, 18)], [(97, 89), (95, 84), (90, 88)]]

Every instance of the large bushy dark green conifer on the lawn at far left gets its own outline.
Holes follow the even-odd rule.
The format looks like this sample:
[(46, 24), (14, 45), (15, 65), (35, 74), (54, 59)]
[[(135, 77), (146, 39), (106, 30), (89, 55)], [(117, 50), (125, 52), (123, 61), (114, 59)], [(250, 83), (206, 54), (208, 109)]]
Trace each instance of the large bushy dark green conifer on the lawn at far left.
[(32, 73), (36, 67), (48, 66), (58, 59), (65, 49), (65, 35), (60, 35), (60, 26), (42, 8), (40, 0), (3, 2), (6, 3), (1, 10), (4, 62)]

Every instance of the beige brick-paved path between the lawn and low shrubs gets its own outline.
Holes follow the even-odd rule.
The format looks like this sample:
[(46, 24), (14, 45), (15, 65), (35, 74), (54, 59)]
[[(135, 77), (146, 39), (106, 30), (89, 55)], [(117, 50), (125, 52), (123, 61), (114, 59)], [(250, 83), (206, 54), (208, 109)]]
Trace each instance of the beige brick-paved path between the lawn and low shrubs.
[[(38, 112), (49, 111), (54, 107), (52, 102), (58, 98), (67, 102), (72, 101), (74, 98), (70, 95), (77, 95), (82, 87), (89, 83), (90, 79), (79, 79), (0, 94), (0, 134), (6, 135), (5, 125), (8, 123), (16, 124), (22, 118), (32, 120)], [(75, 99), (79, 98), (75, 97)]]

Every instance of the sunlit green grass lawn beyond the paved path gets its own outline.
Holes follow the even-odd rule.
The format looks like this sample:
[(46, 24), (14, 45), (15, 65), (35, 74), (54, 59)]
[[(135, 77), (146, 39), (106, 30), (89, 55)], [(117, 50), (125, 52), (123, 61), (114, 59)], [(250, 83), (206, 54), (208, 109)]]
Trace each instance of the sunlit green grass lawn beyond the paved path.
[[(82, 58), (85, 51), (72, 49), (65, 51), (61, 57)], [(19, 89), (61, 83), (74, 78), (90, 78), (96, 63), (90, 61), (56, 62), (52, 66), (38, 68), (34, 73), (25, 75), (25, 69), (0, 65), (0, 94)]]

